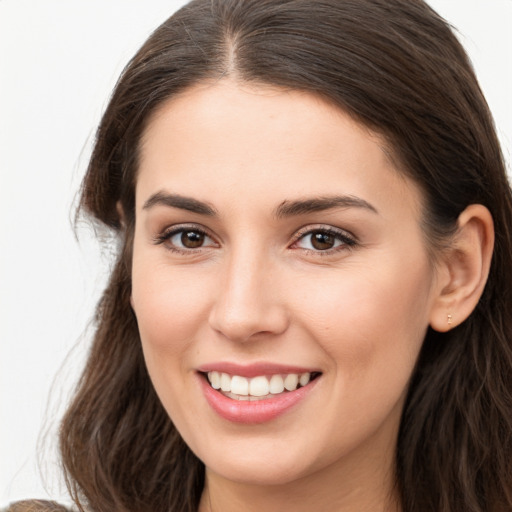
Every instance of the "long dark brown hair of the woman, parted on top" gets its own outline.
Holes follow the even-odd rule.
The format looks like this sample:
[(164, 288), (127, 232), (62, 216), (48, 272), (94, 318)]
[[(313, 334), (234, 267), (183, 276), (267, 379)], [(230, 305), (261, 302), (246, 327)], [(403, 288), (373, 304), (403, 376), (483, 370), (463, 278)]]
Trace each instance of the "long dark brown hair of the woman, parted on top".
[(468, 58), (422, 0), (193, 0), (128, 64), (81, 199), (122, 250), (61, 428), (77, 506), (197, 510), (204, 466), (152, 388), (130, 307), (134, 190), (150, 115), (187, 87), (225, 76), (319, 95), (383, 135), (397, 167), (423, 190), (432, 251), (465, 207), (491, 211), (487, 286), (463, 324), (427, 333), (403, 411), (396, 479), (407, 512), (512, 510), (512, 195)]

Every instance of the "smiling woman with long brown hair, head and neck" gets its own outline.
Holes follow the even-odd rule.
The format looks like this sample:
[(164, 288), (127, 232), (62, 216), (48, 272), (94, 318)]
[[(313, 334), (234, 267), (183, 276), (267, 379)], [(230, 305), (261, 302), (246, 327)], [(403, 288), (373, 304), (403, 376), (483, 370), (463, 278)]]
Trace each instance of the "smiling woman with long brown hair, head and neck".
[(122, 248), (61, 429), (79, 508), (512, 510), (512, 197), (426, 4), (190, 3), (81, 206)]

